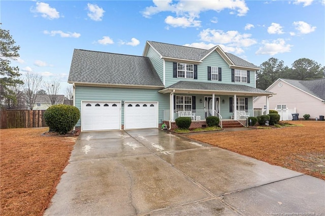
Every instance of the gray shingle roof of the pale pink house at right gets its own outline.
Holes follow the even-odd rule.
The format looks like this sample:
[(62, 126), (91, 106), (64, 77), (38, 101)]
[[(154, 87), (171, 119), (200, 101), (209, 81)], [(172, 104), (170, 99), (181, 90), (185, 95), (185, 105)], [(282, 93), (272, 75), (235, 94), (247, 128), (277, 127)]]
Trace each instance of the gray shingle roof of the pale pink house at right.
[(311, 95), (325, 100), (325, 78), (315, 80), (289, 80), (281, 79)]

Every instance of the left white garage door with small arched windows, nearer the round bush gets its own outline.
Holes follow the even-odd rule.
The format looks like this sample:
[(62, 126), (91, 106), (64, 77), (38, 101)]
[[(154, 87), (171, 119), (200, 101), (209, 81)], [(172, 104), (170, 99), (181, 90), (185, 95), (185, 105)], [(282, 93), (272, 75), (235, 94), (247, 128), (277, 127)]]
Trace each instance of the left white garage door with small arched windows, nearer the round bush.
[(81, 112), (83, 131), (120, 129), (120, 102), (83, 101)]

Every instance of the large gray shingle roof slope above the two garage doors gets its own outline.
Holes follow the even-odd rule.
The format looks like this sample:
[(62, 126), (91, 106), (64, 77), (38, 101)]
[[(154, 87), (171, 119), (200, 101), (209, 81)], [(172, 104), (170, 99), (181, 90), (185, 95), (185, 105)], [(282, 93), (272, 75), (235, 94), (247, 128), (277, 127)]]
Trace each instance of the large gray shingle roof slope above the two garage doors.
[(69, 83), (164, 85), (148, 57), (75, 49)]

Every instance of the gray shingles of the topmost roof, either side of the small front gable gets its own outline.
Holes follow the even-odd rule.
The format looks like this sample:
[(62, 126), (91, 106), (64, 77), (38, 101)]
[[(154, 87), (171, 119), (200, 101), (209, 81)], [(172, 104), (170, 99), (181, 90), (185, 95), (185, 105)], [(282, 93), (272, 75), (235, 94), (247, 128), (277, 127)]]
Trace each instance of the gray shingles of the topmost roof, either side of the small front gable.
[[(214, 50), (217, 46), (212, 47), (209, 50), (205, 49), (199, 49), (199, 48), (193, 48), (193, 47), (186, 47), (186, 46), (180, 46), (180, 45), (173, 45), (173, 44), (165, 44), (165, 43), (159, 43), (154, 41), (148, 41), (148, 43), (161, 55), (164, 57), (169, 58), (179, 58), (179, 59), (186, 59), (186, 60), (194, 60), (194, 61), (200, 61), (204, 56), (206, 56), (209, 52)], [(244, 67), (255, 67), (258, 68), (258, 66), (245, 61), (242, 58), (239, 58), (236, 55), (233, 55), (231, 53), (225, 53), (232, 62), (237, 66), (244, 66)]]

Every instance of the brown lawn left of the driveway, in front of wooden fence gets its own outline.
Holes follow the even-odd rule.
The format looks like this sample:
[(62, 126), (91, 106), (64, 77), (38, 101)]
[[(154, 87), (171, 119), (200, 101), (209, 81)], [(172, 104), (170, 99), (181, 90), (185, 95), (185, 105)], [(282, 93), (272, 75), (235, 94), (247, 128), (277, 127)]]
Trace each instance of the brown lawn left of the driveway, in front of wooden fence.
[(68, 164), (76, 137), (48, 128), (0, 130), (1, 215), (43, 215)]

